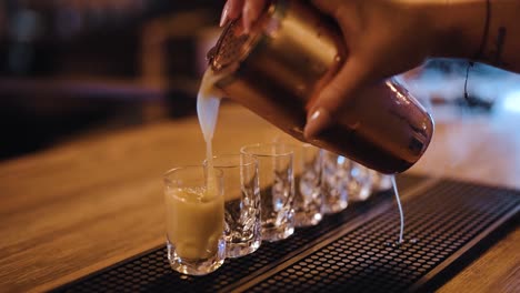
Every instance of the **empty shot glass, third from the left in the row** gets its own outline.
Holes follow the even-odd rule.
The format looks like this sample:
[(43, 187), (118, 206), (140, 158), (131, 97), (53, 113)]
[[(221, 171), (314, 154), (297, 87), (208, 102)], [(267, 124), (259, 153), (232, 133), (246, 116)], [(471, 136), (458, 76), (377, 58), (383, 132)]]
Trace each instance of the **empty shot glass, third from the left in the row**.
[(242, 154), (258, 160), (262, 240), (274, 242), (294, 233), (293, 150), (288, 144), (242, 146)]

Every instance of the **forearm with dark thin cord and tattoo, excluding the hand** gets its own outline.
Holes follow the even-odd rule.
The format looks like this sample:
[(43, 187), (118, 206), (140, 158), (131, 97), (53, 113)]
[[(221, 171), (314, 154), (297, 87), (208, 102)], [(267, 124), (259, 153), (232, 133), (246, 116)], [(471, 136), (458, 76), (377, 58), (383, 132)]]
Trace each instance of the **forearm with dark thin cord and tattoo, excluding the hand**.
[(436, 55), (478, 59), (520, 72), (520, 0), (489, 1), (488, 28), (486, 0), (452, 0), (443, 7), (436, 17), (441, 31)]

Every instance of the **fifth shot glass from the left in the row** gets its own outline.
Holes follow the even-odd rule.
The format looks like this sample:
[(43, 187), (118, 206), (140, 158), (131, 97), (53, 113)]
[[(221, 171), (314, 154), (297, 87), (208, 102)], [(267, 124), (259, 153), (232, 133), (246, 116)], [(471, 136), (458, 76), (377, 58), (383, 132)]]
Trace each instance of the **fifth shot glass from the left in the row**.
[(349, 205), (350, 161), (339, 154), (323, 151), (321, 192), (324, 214), (338, 213)]

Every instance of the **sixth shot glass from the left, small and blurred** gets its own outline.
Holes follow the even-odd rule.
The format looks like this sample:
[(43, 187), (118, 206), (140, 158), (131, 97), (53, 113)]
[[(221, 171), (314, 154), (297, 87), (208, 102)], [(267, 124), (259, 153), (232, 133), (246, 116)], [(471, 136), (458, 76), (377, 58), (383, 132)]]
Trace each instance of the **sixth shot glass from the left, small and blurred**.
[(373, 191), (373, 173), (370, 169), (350, 161), (349, 182), (347, 186), (349, 200), (366, 201)]

